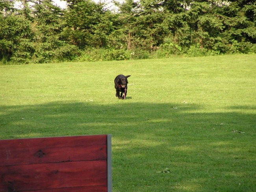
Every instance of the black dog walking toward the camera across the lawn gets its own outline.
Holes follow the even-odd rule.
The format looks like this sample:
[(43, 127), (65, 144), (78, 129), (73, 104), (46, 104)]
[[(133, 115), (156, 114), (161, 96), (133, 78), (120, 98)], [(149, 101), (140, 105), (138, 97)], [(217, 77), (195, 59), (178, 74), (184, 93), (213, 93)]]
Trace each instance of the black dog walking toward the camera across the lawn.
[[(115, 96), (118, 97), (119, 99), (125, 99), (126, 94), (127, 94), (127, 83), (128, 80), (127, 78), (130, 77), (130, 75), (128, 76), (124, 76), (124, 75), (118, 75), (115, 78), (115, 90), (116, 90), (116, 94)], [(121, 95), (120, 95), (121, 92)], [(122, 94), (124, 94), (124, 96), (122, 96)]]

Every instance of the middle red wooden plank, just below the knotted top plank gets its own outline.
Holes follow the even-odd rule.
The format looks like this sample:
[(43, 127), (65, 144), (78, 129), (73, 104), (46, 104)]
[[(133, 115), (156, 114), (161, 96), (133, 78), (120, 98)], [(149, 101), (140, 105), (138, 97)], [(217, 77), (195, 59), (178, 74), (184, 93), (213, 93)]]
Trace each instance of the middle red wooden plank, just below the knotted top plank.
[(2, 166), (0, 169), (0, 192), (107, 186), (104, 160)]

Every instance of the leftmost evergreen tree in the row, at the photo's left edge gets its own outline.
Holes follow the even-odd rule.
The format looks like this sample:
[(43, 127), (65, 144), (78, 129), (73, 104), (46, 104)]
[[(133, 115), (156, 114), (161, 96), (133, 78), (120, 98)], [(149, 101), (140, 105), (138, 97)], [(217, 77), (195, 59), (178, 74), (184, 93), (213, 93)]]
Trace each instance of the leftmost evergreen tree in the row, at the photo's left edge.
[(0, 16), (0, 59), (28, 63), (34, 52), (31, 21), (17, 14), (13, 2), (1, 2), (0, 5), (4, 13)]

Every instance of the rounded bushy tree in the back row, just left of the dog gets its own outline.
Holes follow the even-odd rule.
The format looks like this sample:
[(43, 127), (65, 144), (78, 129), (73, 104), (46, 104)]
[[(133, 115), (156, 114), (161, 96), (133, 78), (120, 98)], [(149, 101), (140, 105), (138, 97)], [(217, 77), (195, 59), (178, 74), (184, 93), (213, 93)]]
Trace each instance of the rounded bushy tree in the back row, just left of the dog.
[(116, 30), (117, 17), (103, 4), (92, 0), (68, 0), (66, 28), (62, 35), (66, 41), (85, 49), (88, 46), (106, 47)]

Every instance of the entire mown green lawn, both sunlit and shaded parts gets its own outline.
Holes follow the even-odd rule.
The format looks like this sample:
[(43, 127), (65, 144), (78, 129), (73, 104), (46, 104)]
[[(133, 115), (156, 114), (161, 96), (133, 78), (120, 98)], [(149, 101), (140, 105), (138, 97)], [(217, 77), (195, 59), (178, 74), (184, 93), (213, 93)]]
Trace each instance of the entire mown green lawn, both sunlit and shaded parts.
[(253, 192), (255, 74), (256, 55), (0, 66), (0, 138), (112, 134), (113, 192)]

